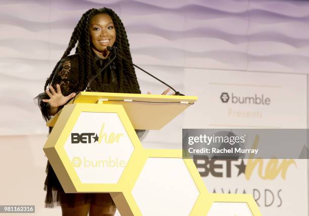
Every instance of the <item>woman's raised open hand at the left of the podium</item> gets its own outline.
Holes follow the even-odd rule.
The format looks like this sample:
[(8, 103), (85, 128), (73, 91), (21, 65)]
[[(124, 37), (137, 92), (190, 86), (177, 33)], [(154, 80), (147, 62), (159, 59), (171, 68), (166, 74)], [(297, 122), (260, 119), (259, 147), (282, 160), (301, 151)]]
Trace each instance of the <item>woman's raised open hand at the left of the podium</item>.
[(49, 103), (51, 110), (55, 108), (57, 108), (58, 110), (59, 106), (66, 104), (69, 99), (75, 97), (76, 95), (76, 93), (73, 92), (68, 96), (64, 96), (61, 92), (60, 85), (57, 84), (56, 87), (57, 92), (55, 91), (53, 86), (50, 85), (49, 86), (50, 91), (48, 89), (45, 90), (46, 94), (49, 96), (49, 99), (42, 99), (43, 102)]

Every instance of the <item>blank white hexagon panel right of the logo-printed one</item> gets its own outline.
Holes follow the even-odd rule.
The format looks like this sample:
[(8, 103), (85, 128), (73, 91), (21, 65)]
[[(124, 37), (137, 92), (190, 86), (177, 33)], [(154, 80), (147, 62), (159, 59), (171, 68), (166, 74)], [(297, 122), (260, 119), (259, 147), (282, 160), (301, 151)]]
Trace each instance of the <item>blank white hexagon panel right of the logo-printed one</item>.
[(142, 215), (187, 216), (199, 190), (182, 158), (148, 157), (132, 196)]

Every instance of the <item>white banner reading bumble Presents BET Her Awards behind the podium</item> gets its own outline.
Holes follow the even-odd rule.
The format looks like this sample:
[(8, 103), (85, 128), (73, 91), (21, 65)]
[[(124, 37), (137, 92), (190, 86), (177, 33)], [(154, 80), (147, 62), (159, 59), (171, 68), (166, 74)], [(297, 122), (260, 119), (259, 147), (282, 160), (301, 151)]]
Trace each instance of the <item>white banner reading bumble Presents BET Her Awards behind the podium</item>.
[[(202, 104), (186, 112), (187, 128), (228, 128), (237, 135), (244, 131), (307, 131), (307, 75), (201, 69), (190, 73), (205, 79), (187, 77), (188, 82), (202, 86), (194, 92), (202, 95)], [(243, 99), (252, 97), (261, 100)], [(204, 121), (197, 121), (201, 118)], [(254, 139), (246, 142), (246, 146), (254, 145)], [(291, 152), (282, 157), (284, 152), (277, 144), (281, 156), (237, 159), (201, 154), (194, 157), (194, 163), (212, 193), (250, 193), (263, 215), (307, 215), (307, 159), (297, 159), (297, 153), (288, 155)]]

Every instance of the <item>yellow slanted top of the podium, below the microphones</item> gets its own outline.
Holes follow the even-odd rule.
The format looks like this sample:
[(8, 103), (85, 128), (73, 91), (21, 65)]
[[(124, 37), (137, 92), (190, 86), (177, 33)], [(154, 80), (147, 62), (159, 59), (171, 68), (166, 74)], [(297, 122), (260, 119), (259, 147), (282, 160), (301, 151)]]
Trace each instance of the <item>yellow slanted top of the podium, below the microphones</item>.
[[(134, 129), (160, 130), (197, 100), (196, 96), (79, 92), (68, 104), (122, 105)], [(47, 122), (53, 127), (61, 111)]]

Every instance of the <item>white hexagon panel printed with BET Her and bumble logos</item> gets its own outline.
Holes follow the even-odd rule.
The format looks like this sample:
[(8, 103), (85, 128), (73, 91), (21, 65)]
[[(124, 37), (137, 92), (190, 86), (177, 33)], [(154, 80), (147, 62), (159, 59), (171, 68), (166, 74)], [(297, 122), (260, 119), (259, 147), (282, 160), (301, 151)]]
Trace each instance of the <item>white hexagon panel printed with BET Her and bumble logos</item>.
[(81, 183), (115, 184), (134, 147), (117, 113), (82, 112), (64, 149)]

